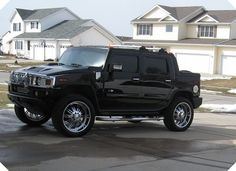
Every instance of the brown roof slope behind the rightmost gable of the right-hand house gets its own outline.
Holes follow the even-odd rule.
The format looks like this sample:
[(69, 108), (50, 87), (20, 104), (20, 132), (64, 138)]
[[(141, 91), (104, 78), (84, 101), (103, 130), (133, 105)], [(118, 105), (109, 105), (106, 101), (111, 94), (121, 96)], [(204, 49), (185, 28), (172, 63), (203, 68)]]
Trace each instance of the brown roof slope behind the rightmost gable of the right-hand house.
[(236, 20), (236, 10), (210, 10), (199, 14), (189, 22), (195, 22), (205, 15), (209, 15), (221, 23), (232, 23), (234, 20)]

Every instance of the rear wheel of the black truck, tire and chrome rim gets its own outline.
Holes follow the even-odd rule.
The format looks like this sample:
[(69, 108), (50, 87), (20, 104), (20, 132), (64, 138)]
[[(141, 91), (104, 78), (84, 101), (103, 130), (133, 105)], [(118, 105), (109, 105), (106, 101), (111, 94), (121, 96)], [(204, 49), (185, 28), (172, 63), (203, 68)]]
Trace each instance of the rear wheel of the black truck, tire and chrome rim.
[(176, 98), (164, 111), (164, 124), (170, 131), (186, 131), (192, 124), (194, 110), (192, 103), (184, 98)]

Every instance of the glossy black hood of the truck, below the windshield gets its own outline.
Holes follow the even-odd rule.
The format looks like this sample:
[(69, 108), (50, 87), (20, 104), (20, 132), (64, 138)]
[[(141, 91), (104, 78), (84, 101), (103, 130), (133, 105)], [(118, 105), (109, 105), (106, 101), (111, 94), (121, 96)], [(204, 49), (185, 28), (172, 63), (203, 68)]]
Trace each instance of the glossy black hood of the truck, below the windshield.
[(32, 66), (27, 68), (22, 68), (16, 70), (16, 72), (26, 72), (29, 74), (42, 74), (47, 76), (53, 75), (61, 75), (61, 74), (71, 74), (71, 73), (80, 73), (80, 72), (88, 72), (89, 67), (82, 66), (67, 66), (67, 65), (40, 65), (40, 66)]

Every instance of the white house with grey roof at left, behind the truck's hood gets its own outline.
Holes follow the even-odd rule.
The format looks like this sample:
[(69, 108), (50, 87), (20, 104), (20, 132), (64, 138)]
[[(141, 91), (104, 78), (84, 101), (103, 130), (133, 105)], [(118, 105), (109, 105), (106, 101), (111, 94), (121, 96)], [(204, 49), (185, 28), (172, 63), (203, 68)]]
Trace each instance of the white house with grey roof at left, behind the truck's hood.
[(94, 20), (81, 19), (67, 8), (48, 8), (16, 9), (2, 44), (4, 53), (47, 60), (60, 56), (70, 46), (121, 42)]

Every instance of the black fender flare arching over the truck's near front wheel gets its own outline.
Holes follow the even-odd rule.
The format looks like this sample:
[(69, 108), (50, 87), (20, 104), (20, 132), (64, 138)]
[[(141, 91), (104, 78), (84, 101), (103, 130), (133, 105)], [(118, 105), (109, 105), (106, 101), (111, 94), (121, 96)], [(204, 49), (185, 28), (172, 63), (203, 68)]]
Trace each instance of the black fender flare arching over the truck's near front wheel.
[(84, 96), (88, 100), (91, 101), (96, 113), (99, 112), (99, 106), (97, 103), (97, 96), (95, 94), (95, 91), (92, 89), (92, 87), (86, 86), (86, 85), (85, 86), (76, 86), (76, 87), (67, 87), (65, 89), (65, 93), (63, 93), (63, 94), (64, 95), (78, 94), (78, 95)]

